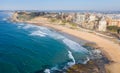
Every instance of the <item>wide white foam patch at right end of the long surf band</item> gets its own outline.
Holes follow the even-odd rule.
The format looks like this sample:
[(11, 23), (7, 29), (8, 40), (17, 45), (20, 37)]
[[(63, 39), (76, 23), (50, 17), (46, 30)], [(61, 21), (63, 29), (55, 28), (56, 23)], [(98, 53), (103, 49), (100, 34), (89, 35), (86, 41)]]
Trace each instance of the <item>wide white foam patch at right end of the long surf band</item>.
[(75, 52), (88, 52), (87, 49), (83, 48), (79, 43), (76, 43), (70, 39), (64, 39), (63, 42)]

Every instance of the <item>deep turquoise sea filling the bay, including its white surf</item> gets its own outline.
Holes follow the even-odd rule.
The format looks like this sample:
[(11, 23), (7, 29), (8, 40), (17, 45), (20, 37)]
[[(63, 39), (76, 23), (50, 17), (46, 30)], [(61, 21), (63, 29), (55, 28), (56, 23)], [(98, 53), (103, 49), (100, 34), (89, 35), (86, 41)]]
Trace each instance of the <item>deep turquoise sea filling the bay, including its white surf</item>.
[[(88, 51), (42, 26), (12, 23), (0, 12), (0, 73), (35, 73), (85, 63)], [(42, 73), (44, 73), (42, 72)]]

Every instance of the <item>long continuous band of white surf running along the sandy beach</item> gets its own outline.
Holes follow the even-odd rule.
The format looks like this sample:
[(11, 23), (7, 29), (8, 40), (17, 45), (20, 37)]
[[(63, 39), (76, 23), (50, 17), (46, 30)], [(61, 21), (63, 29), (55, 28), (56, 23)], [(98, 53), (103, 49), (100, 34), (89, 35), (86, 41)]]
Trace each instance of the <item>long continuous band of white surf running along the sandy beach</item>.
[[(83, 48), (79, 43), (76, 43), (76, 42), (62, 36), (61, 34), (57, 33), (56, 31), (51, 31), (50, 29), (48, 29), (46, 27), (36, 26), (36, 25), (31, 25), (31, 24), (25, 24), (25, 25), (21, 24), (21, 26), (23, 27), (23, 29), (34, 28), (30, 34), (32, 36), (45, 37), (46, 35), (48, 35), (54, 39), (59, 39), (59, 40), (63, 41), (63, 43), (65, 43), (72, 51), (87, 52), (87, 50), (85, 48)], [(21, 27), (19, 26), (19, 28), (21, 28)]]

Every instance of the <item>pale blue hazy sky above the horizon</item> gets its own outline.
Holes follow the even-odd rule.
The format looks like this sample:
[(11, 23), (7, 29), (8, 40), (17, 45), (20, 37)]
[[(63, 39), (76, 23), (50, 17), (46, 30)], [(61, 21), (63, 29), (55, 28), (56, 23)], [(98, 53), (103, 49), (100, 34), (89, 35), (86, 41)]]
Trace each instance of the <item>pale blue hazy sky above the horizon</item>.
[(120, 0), (0, 0), (0, 10), (120, 10)]

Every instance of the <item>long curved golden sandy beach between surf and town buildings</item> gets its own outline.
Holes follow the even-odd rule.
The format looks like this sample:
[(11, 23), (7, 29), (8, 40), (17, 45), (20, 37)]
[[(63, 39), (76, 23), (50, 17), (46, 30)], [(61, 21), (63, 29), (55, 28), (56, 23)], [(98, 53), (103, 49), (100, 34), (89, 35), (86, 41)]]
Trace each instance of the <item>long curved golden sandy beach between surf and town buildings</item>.
[(106, 65), (107, 72), (120, 72), (120, 46), (118, 44), (115, 44), (113, 41), (95, 35), (93, 33), (88, 33), (86, 31), (78, 31), (64, 26), (55, 25), (48, 22), (47, 19), (37, 18), (31, 21), (27, 21), (27, 23), (33, 23), (39, 26), (50, 27), (60, 32), (64, 32), (69, 35), (75, 36), (77, 38), (96, 43), (99, 47), (101, 47), (100, 50), (102, 50), (102, 52), (108, 57), (108, 59), (112, 61), (110, 64)]

